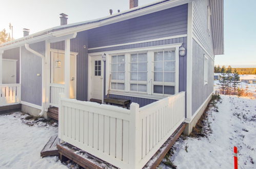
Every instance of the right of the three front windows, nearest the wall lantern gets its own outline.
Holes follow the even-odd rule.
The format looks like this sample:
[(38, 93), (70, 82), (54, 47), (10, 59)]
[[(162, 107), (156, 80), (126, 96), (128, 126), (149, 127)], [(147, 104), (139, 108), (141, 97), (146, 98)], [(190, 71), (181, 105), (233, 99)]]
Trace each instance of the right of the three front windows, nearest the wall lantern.
[(153, 93), (174, 94), (175, 51), (154, 52)]

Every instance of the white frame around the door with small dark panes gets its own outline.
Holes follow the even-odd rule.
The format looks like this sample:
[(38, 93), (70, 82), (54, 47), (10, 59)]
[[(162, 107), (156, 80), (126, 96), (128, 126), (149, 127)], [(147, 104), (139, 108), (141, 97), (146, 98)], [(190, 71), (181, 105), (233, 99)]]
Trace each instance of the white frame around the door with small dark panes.
[[(104, 53), (104, 52), (103, 52)], [(91, 80), (91, 76), (92, 76), (92, 72), (91, 72), (91, 58), (95, 57), (95, 56), (101, 56), (101, 61), (102, 61), (102, 103), (104, 103), (104, 77), (105, 77), (105, 61), (102, 60), (102, 55), (101, 54), (97, 54), (97, 55), (90, 55), (88, 54), (88, 77), (87, 77), (87, 81), (88, 81), (88, 86), (87, 86), (87, 100), (90, 101), (91, 99), (91, 94), (90, 91), (92, 89), (92, 80)]]

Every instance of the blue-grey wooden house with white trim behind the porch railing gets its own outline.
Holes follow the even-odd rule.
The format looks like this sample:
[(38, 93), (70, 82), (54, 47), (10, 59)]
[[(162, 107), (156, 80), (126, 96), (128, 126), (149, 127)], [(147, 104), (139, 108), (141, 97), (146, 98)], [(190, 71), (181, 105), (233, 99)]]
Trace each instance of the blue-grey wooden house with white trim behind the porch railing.
[(165, 0), (87, 22), (61, 19), (0, 45), (0, 84), (9, 83), (4, 65), (15, 60), (23, 111), (46, 115), (58, 93), (101, 102), (109, 93), (143, 107), (185, 91), (191, 132), (213, 92), (214, 57), (224, 52), (223, 0)]

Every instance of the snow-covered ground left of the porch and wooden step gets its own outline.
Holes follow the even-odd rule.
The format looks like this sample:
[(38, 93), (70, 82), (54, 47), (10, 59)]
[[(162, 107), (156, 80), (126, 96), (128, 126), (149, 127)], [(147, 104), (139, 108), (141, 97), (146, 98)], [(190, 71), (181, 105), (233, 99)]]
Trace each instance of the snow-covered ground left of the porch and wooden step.
[(57, 127), (45, 122), (24, 123), (22, 113), (0, 115), (0, 168), (67, 168), (57, 157), (40, 157)]

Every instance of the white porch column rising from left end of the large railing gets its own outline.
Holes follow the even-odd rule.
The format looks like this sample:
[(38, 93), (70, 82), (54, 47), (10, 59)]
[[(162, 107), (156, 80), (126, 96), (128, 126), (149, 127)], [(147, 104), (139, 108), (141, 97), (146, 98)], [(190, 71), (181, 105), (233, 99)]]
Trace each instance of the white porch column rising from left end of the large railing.
[(70, 39), (65, 40), (65, 97), (70, 98)]

